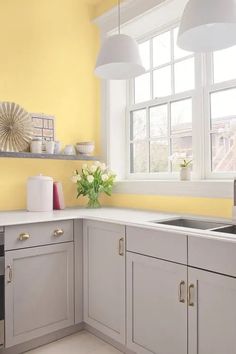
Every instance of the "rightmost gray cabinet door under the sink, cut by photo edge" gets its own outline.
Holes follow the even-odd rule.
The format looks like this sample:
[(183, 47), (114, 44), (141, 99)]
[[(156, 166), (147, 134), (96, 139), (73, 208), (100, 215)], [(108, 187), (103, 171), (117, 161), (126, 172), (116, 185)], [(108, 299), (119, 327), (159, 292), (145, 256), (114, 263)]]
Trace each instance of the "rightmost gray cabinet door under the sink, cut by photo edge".
[(236, 279), (189, 267), (189, 354), (236, 353)]

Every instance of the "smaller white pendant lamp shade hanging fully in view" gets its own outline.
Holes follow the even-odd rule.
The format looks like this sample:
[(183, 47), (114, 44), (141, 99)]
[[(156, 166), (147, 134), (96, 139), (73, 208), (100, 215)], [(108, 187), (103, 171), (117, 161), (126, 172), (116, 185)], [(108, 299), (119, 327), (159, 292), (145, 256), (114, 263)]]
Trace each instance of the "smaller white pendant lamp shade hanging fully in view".
[(107, 38), (97, 58), (95, 74), (107, 80), (127, 80), (145, 72), (137, 42), (125, 34)]

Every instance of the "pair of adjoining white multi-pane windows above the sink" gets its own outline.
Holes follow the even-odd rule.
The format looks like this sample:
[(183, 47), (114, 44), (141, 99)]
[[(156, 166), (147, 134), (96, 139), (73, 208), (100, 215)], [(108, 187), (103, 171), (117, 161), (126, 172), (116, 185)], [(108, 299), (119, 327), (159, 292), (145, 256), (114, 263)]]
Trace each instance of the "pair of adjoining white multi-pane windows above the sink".
[(140, 43), (146, 72), (129, 83), (128, 176), (175, 177), (178, 155), (193, 158), (198, 178), (232, 177), (236, 46), (194, 55), (178, 48), (177, 35), (174, 26)]

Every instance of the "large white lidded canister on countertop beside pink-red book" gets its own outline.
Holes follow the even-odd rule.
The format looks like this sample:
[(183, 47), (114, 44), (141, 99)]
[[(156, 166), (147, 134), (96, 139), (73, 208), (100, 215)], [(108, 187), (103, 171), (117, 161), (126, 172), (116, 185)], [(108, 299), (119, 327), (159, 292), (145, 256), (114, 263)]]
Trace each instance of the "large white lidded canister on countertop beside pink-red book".
[(53, 210), (53, 179), (51, 177), (39, 175), (28, 178), (27, 210)]

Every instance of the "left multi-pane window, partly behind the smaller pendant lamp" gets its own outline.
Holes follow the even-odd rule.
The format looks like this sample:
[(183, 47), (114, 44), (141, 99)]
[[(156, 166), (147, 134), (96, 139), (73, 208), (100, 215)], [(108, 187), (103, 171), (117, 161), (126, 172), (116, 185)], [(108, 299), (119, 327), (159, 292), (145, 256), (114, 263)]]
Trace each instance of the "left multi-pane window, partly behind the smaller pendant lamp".
[(131, 88), (132, 174), (171, 174), (179, 169), (171, 155), (192, 156), (195, 58), (177, 47), (177, 33), (173, 28), (140, 44), (146, 73)]

